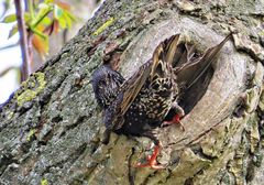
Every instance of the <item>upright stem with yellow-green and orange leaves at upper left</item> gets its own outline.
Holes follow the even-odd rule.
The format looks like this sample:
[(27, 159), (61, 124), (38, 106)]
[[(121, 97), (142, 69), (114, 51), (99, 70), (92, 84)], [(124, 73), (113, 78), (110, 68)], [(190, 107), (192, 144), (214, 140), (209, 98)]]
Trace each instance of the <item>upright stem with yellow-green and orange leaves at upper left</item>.
[(61, 30), (70, 29), (76, 18), (70, 13), (70, 6), (58, 0), (26, 0), (22, 10), (21, 0), (14, 0), (15, 13), (4, 17), (3, 23), (16, 24), (12, 26), (9, 37), (20, 33), (20, 45), (22, 51), (21, 80), (25, 80), (31, 73), (32, 46), (44, 57), (48, 53), (48, 36), (57, 34)]

